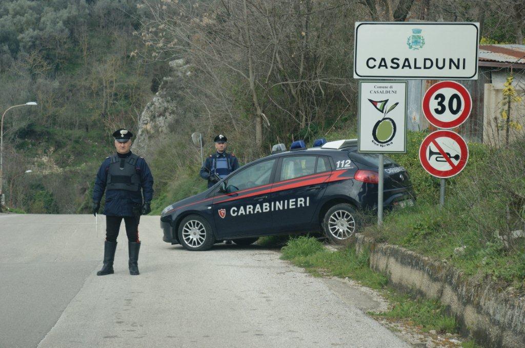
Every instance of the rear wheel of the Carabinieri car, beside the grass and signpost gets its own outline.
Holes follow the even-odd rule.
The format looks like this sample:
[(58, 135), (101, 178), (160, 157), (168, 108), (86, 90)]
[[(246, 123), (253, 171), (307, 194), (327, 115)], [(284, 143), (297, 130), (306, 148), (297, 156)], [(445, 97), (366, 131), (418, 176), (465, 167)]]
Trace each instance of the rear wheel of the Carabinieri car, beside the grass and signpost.
[(347, 203), (332, 206), (323, 217), (324, 234), (332, 242), (342, 243), (358, 230), (359, 221), (354, 207)]

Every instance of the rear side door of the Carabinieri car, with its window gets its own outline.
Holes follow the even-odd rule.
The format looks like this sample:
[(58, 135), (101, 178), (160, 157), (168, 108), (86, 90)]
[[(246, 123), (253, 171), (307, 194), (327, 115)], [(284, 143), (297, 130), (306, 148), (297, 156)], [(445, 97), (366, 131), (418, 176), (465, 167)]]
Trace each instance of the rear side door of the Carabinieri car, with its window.
[(276, 230), (310, 229), (330, 173), (330, 161), (326, 156), (282, 157), (272, 186)]

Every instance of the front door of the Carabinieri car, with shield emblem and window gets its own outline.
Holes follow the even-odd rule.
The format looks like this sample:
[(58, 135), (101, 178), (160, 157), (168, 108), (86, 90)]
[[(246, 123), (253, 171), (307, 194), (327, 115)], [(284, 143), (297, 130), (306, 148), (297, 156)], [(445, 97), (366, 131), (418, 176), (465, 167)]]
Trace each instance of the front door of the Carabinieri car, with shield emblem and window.
[(273, 229), (270, 199), (276, 164), (275, 158), (256, 162), (225, 181), (227, 192), (217, 192), (212, 206), (218, 239)]

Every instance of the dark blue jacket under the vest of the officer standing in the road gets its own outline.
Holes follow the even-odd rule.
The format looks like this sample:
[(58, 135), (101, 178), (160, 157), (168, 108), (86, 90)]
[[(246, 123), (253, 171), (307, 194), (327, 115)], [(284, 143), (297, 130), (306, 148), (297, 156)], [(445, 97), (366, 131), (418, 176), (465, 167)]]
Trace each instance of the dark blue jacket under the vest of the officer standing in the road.
[[(129, 152), (131, 155), (131, 151)], [(128, 154), (126, 154), (129, 156)], [(121, 157), (120, 155), (119, 157)], [(108, 179), (109, 165), (111, 164), (110, 157), (102, 162), (95, 180), (95, 187), (93, 188), (93, 202), (100, 202), (104, 191), (106, 191), (106, 182)], [(133, 216), (133, 205), (140, 205), (142, 211), (142, 197), (145, 202), (151, 202), (153, 199), (153, 176), (151, 175), (150, 167), (146, 164), (144, 158), (139, 157), (135, 170), (140, 177), (142, 190), (127, 191), (127, 190), (108, 190), (106, 191), (106, 206), (104, 207), (104, 215), (110, 216)], [(141, 192), (142, 191), (142, 192)]]

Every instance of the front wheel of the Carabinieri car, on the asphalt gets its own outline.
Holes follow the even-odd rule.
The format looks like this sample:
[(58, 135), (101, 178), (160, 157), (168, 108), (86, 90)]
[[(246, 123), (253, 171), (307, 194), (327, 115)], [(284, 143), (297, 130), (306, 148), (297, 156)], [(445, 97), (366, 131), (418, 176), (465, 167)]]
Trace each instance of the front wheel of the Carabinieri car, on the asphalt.
[(213, 246), (212, 226), (201, 215), (188, 215), (178, 225), (178, 242), (189, 251), (204, 251)]

